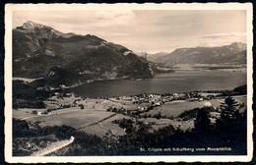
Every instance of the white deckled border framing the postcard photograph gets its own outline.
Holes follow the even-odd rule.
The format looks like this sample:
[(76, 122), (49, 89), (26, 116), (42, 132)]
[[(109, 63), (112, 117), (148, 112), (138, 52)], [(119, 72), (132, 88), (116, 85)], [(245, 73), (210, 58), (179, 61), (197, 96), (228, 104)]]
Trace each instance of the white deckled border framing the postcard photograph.
[[(247, 11), (247, 155), (246, 156), (52, 156), (52, 157), (13, 157), (12, 156), (12, 13), (26, 10), (246, 10)], [(46, 162), (248, 162), (253, 151), (253, 112), (252, 112), (252, 4), (251, 3), (186, 3), (186, 4), (7, 4), (5, 6), (5, 160), (9, 163)]]

